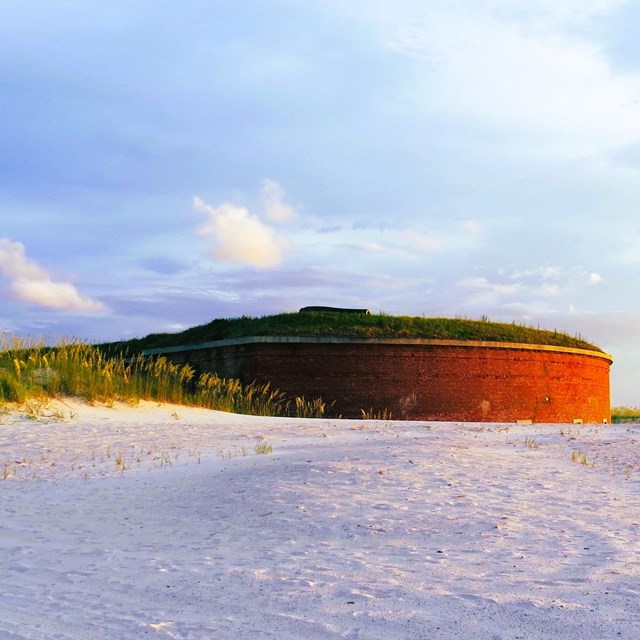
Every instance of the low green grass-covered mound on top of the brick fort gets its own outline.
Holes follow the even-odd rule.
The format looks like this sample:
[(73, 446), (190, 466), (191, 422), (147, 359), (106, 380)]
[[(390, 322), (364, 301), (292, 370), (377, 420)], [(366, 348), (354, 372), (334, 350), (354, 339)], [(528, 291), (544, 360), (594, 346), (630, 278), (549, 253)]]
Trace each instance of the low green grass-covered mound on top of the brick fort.
[(327, 336), (341, 338), (427, 338), (542, 344), (601, 351), (580, 336), (520, 324), (453, 318), (421, 318), (364, 313), (281, 313), (217, 319), (180, 333), (154, 333), (109, 345), (128, 353), (250, 336)]

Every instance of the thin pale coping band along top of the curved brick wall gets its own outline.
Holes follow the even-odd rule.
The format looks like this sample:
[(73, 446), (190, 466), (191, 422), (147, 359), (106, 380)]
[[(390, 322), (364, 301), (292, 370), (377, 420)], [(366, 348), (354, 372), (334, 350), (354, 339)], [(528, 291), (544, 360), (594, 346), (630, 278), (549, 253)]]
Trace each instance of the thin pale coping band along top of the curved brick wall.
[(434, 347), (480, 347), (483, 349), (519, 349), (523, 351), (555, 351), (557, 353), (573, 353), (582, 356), (592, 356), (613, 363), (613, 356), (604, 351), (593, 349), (578, 349), (548, 344), (527, 344), (521, 342), (490, 342), (480, 340), (434, 340), (429, 338), (337, 338), (332, 336), (248, 336), (245, 338), (229, 338), (214, 340), (199, 344), (162, 347), (159, 349), (144, 349), (143, 356), (162, 355), (165, 353), (179, 353), (182, 351), (198, 351), (200, 349), (215, 349), (217, 347), (234, 347), (245, 344), (388, 344), (407, 346)]

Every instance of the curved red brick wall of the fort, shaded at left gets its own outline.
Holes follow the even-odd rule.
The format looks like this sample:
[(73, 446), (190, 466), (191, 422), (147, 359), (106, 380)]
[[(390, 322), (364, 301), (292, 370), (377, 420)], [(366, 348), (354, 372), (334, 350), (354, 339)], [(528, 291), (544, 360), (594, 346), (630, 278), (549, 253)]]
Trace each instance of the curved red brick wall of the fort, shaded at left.
[(150, 350), (197, 373), (270, 382), (288, 395), (394, 418), (479, 422), (610, 421), (598, 351), (491, 342), (256, 337)]

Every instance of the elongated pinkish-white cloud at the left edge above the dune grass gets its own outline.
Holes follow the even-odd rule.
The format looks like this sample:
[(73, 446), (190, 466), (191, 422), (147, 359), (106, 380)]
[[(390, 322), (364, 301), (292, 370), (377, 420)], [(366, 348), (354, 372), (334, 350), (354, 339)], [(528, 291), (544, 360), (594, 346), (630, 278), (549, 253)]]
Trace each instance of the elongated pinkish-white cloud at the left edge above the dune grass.
[(104, 304), (83, 296), (68, 282), (54, 282), (51, 276), (29, 259), (21, 242), (0, 238), (0, 271), (9, 278), (9, 291), (18, 300), (51, 309), (101, 313)]

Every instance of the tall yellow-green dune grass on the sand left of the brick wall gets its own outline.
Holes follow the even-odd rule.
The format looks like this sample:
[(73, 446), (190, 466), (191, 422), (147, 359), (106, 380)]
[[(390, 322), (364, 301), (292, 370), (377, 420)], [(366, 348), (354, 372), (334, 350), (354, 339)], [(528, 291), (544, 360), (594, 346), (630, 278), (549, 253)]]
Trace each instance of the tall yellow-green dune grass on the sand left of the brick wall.
[(322, 417), (327, 409), (320, 399), (290, 399), (269, 384), (242, 385), (212, 373), (196, 378), (191, 366), (162, 357), (107, 356), (79, 341), (48, 347), (3, 337), (0, 406), (60, 396), (106, 404), (153, 400), (261, 416)]

